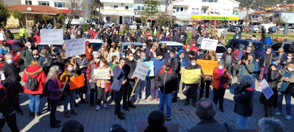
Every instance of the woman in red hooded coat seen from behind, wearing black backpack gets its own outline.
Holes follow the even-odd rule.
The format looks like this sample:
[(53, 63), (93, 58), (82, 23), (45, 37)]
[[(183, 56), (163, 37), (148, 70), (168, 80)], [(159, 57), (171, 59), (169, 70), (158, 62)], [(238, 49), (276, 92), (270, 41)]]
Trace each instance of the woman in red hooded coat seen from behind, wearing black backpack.
[[(22, 77), (22, 81), (27, 82), (29, 76), (32, 78), (36, 78), (38, 84), (37, 87), (33, 90), (30, 90), (24, 85), (24, 93), (29, 95), (30, 102), (30, 118), (38, 117), (42, 113), (39, 112), (40, 107), (40, 95), (43, 93), (44, 83), (46, 82), (46, 75), (41, 67), (41, 64), (38, 60), (33, 60), (28, 68), (24, 69), (24, 76)], [(34, 110), (35, 104), (35, 112)]]

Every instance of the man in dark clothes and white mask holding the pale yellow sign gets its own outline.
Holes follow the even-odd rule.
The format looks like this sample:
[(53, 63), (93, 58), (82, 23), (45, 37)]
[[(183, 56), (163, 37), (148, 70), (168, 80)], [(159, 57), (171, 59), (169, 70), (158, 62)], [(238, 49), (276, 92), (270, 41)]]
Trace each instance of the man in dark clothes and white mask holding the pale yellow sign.
[[(194, 70), (194, 69), (200, 69), (201, 73), (199, 75), (195, 75), (195, 76), (199, 76), (202, 77), (203, 76), (203, 71), (201, 69), (201, 66), (197, 64), (197, 58), (196, 57), (192, 57), (191, 58), (191, 64), (187, 65), (187, 70)], [(183, 72), (179, 72), (180, 74), (183, 74)], [(185, 106), (190, 104), (190, 98), (192, 97), (192, 105), (193, 107), (196, 107), (196, 102), (197, 102), (197, 89), (198, 89), (199, 83), (197, 84), (186, 84), (186, 89), (187, 89), (187, 93), (186, 93), (186, 101), (185, 101)]]

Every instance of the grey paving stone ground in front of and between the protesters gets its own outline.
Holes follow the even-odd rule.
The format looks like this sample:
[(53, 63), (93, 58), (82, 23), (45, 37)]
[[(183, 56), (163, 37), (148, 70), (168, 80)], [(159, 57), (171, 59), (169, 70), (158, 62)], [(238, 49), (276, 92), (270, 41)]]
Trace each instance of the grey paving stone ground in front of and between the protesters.
[[(22, 77), (22, 73), (20, 74)], [(233, 79), (233, 82), (236, 82), (236, 78)], [(24, 83), (21, 82), (23, 85)], [(256, 83), (257, 84), (257, 83)], [(224, 97), (224, 110), (225, 112), (222, 113), (218, 109), (217, 105), (217, 113), (216, 113), (216, 119), (219, 121), (225, 121), (228, 124), (232, 125), (234, 128), (237, 128), (236, 124), (236, 114), (233, 112), (234, 110), (234, 104), (233, 101), (233, 89), (238, 84), (233, 84), (233, 86), (229, 87), (225, 92)], [(257, 86), (257, 85), (256, 85)], [(261, 90), (258, 87), (255, 87), (256, 91), (254, 92), (254, 98), (253, 98), (253, 115), (249, 117), (246, 121), (246, 125), (248, 128), (258, 128), (258, 121), (261, 119), (264, 115), (263, 112), (263, 105), (259, 104), (259, 96), (261, 94)], [(200, 89), (200, 87), (199, 87)], [(198, 89), (198, 90), (199, 90)], [(213, 92), (212, 89), (210, 89), (210, 95), (209, 98), (213, 98)], [(114, 115), (114, 104), (110, 104), (109, 101), (110, 97), (108, 97), (108, 109), (101, 108), (100, 111), (95, 111), (95, 107), (91, 107), (89, 104), (81, 104), (80, 99), (76, 98), (76, 102), (78, 103), (78, 107), (75, 107), (75, 111), (78, 112), (78, 115), (71, 115), (71, 118), (66, 118), (64, 116), (64, 108), (61, 106), (61, 109), (56, 111), (56, 118), (57, 120), (61, 120), (62, 123), (68, 120), (77, 120), (80, 123), (83, 124), (85, 132), (105, 132), (108, 131), (110, 126), (113, 124), (121, 124), (124, 128), (126, 128), (129, 132), (137, 131), (137, 120), (138, 119), (145, 119), (147, 120), (147, 117), (149, 113), (151, 113), (154, 110), (158, 110), (158, 103), (159, 101), (153, 100), (149, 101), (150, 94), (148, 94), (148, 102), (144, 103), (143, 101), (140, 101), (138, 104), (135, 104), (136, 108), (130, 108), (130, 111), (124, 111), (122, 109), (122, 112), (125, 113), (126, 119), (120, 120), (117, 118), (117, 116)], [(188, 131), (190, 128), (195, 126), (200, 119), (195, 114), (195, 107), (192, 105), (184, 106), (184, 102), (186, 97), (183, 94), (179, 94), (178, 102), (172, 103), (172, 120), (169, 122), (173, 123), (179, 123), (180, 132)], [(198, 95), (199, 97), (199, 91)], [(89, 94), (86, 97), (86, 100), (89, 101)], [(60, 131), (61, 128), (50, 128), (49, 125), (49, 113), (47, 112), (47, 98), (41, 99), (41, 110), (42, 115), (29, 119), (29, 97), (27, 94), (21, 94), (20, 96), (20, 102), (21, 102), (21, 109), (24, 111), (24, 115), (21, 116), (20, 114), (16, 114), (17, 116), (17, 126), (22, 132), (41, 132), (41, 131)], [(122, 102), (121, 102), (122, 104)], [(294, 104), (294, 101), (292, 99), (291, 104)], [(121, 106), (122, 108), (122, 106)], [(285, 132), (294, 132), (294, 117), (291, 120), (285, 120), (285, 101), (283, 101), (283, 114), (281, 116), (274, 116), (277, 119), (280, 119), (285, 124)], [(292, 105), (292, 111), (294, 111), (294, 106)], [(166, 112), (166, 109), (165, 109)], [(61, 123), (61, 124), (62, 124)], [(10, 131), (7, 124), (5, 124), (3, 128), (3, 132)]]

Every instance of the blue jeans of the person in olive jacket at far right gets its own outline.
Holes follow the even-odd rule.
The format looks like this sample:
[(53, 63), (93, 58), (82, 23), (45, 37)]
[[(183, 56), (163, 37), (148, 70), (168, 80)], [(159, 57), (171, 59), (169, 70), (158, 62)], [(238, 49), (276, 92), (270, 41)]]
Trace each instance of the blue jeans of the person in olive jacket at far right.
[(283, 102), (284, 95), (285, 95), (287, 115), (291, 116), (292, 115), (291, 94), (285, 94), (284, 92), (278, 91), (278, 111), (282, 113), (282, 106), (283, 106), (282, 102)]

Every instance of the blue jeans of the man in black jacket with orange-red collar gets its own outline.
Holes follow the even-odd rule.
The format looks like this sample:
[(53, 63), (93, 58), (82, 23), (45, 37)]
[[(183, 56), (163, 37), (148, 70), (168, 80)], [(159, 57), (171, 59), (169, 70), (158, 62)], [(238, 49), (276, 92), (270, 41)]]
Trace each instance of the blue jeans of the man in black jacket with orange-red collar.
[(164, 111), (164, 102), (166, 102), (166, 116), (171, 116), (171, 100), (173, 98), (173, 93), (163, 94), (160, 89), (158, 89), (159, 96), (159, 110)]

